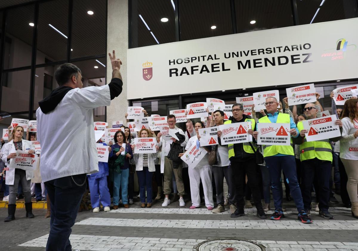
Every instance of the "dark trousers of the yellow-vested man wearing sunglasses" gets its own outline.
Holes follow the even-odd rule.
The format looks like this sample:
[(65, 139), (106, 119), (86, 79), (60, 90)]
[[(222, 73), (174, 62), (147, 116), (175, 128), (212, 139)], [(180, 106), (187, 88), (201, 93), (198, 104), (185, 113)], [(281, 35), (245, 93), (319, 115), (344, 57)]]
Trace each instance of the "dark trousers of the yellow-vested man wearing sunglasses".
[(331, 177), (332, 163), (330, 161), (314, 158), (302, 161), (302, 197), (305, 209), (311, 209), (311, 187), (313, 180), (317, 179), (315, 186), (319, 210), (328, 211), (329, 205), (329, 179)]

